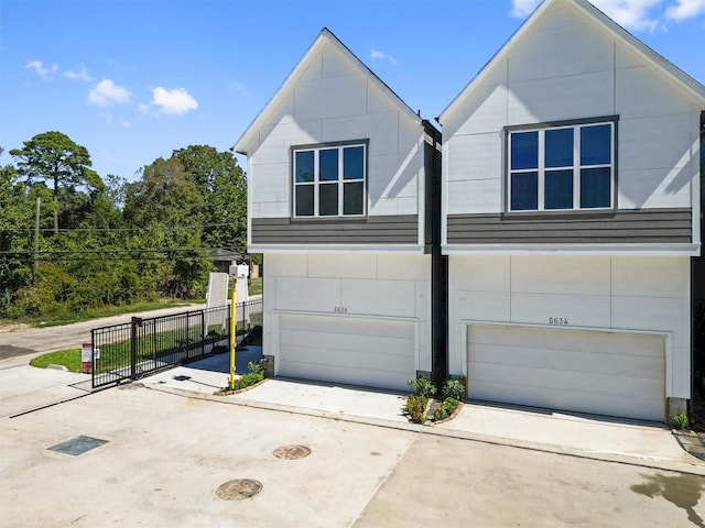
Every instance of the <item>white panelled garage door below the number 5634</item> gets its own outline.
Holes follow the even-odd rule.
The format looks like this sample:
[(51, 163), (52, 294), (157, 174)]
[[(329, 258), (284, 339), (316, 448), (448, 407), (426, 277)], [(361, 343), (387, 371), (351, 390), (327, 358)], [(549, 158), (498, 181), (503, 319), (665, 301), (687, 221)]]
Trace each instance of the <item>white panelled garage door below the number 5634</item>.
[(663, 421), (664, 339), (517, 327), (468, 328), (468, 396)]

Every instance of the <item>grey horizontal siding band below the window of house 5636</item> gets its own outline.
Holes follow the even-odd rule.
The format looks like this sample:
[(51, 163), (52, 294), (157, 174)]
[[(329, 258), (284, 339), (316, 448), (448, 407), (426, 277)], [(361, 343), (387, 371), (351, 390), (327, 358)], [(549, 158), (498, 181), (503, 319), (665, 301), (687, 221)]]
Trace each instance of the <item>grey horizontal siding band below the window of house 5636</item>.
[(417, 244), (419, 217), (359, 220), (253, 218), (251, 244)]

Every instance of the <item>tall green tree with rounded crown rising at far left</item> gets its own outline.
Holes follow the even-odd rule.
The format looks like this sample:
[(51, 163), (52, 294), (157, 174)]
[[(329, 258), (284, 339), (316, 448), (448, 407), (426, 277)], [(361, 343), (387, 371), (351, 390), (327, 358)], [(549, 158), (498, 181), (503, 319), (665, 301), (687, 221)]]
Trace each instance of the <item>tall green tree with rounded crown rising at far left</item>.
[(24, 142), (22, 148), (10, 154), (18, 160), (17, 170), (32, 186), (37, 179), (51, 182), (54, 201), (54, 234), (58, 233), (59, 204), (65, 201), (68, 211), (85, 208), (83, 187), (102, 187), (100, 176), (93, 170), (90, 155), (85, 146), (76, 144), (62, 132), (37, 134)]

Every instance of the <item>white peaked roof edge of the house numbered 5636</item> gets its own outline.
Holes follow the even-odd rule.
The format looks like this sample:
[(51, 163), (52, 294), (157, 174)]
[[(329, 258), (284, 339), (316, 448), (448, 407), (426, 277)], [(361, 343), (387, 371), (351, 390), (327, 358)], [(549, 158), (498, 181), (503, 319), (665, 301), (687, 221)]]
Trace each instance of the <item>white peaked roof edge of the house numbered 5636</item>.
[(392, 100), (397, 101), (400, 109), (406, 113), (412, 120), (421, 123), (421, 117), (416, 114), (394, 91), (387, 86), (370, 68), (368, 68), (348, 47), (343, 44), (337, 36), (335, 36), (330, 30), (324, 28), (313, 42), (306, 54), (299, 62), (296, 67), (289, 74), (281, 88), (274, 94), (270, 101), (264, 106), (260, 113), (247, 128), (245, 133), (232, 146), (232, 151), (238, 154), (247, 154), (247, 148), (254, 139), (254, 134), (260, 130), (262, 125), (268, 122), (268, 118), (274, 111), (274, 109), (283, 101), (289, 91), (293, 89), (299, 78), (306, 72), (308, 66), (315, 61), (323, 48), (330, 44), (335, 46), (344, 56), (346, 56), (352, 65), (355, 65), (362, 75), (367, 76), (378, 88), (387, 94)]

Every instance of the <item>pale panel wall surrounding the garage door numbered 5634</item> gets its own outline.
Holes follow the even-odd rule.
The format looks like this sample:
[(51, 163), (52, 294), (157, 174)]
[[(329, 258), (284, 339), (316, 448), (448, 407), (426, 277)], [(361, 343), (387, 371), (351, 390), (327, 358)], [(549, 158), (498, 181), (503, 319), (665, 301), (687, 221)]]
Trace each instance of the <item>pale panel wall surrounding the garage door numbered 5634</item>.
[(451, 374), (466, 374), (470, 324), (666, 338), (668, 397), (690, 398), (691, 266), (686, 256), (453, 255)]

